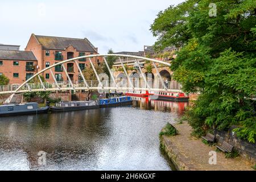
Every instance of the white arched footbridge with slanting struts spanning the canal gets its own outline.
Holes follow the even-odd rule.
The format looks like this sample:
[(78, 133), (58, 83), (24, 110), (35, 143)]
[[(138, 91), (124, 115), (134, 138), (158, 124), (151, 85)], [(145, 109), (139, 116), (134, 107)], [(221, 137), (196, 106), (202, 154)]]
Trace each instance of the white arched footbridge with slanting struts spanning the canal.
[[(113, 71), (110, 69), (108, 62), (106, 61), (106, 57), (108, 56), (115, 56), (119, 58), (119, 61), (121, 62), (123, 72), (125, 73), (126, 79), (123, 79), (122, 81), (117, 81), (117, 79), (113, 75)], [(106, 67), (108, 68), (108, 71), (110, 73), (110, 80), (101, 80), (100, 74), (97, 73), (96, 68), (94, 67), (94, 64), (92, 63), (92, 57), (103, 57), (104, 62), (106, 64)], [(131, 80), (129, 77), (129, 74), (125, 68), (125, 64), (122, 62), (121, 57), (126, 57), (128, 59), (133, 59), (134, 63), (137, 65), (138, 72), (141, 80), (137, 80), (135, 82), (134, 80)], [(85, 77), (83, 75), (82, 70), (79, 67), (79, 63), (77, 60), (79, 59), (89, 59), (90, 66), (94, 71), (94, 74), (97, 77), (97, 80), (85, 80)], [(156, 69), (156, 73), (159, 77), (158, 82), (155, 81), (147, 81), (146, 75), (144, 75), (141, 65), (139, 64), (139, 61), (146, 60), (150, 61), (152, 65), (154, 65), (154, 68)], [(81, 80), (79, 81), (72, 81), (71, 78), (68, 75), (67, 69), (63, 66), (64, 63), (72, 62), (77, 65), (77, 68), (79, 69)], [(168, 84), (164, 82), (163, 78), (160, 76), (160, 73), (158, 71), (158, 67), (155, 63), (167, 65), (170, 66), (170, 63), (166, 63), (164, 61), (150, 59), (147, 57), (140, 57), (140, 56), (133, 56), (133, 55), (121, 55), (121, 54), (106, 54), (106, 55), (88, 55), (88, 56), (80, 56), (75, 57), (72, 59), (64, 60), (59, 63), (53, 64), (42, 71), (39, 71), (38, 73), (35, 73), (32, 77), (30, 77), (27, 81), (23, 82), (23, 84), (13, 84), (13, 85), (1, 85), (0, 86), (0, 94), (12, 94), (6, 102), (10, 102), (11, 98), (16, 93), (24, 93), (24, 92), (38, 92), (38, 91), (56, 91), (56, 90), (152, 90), (152, 91), (164, 91), (168, 90), (170, 92), (180, 92), (180, 85), (172, 82), (169, 82)], [(55, 76), (53, 75), (52, 68), (55, 68), (57, 65), (61, 65), (63, 68), (63, 71), (65, 75), (67, 76), (68, 81), (57, 81)], [(40, 75), (44, 73), (45, 71), (50, 71), (54, 82), (43, 82)], [(31, 80), (35, 77), (39, 78), (38, 83), (31, 83)]]

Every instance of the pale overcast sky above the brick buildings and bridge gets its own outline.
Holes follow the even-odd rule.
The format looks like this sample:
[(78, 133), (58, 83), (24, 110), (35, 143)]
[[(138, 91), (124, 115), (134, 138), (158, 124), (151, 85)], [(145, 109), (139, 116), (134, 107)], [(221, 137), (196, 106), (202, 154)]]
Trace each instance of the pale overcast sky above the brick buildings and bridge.
[(98, 52), (141, 51), (154, 44), (150, 32), (160, 10), (182, 0), (3, 1), (0, 43), (24, 50), (36, 35), (88, 38)]

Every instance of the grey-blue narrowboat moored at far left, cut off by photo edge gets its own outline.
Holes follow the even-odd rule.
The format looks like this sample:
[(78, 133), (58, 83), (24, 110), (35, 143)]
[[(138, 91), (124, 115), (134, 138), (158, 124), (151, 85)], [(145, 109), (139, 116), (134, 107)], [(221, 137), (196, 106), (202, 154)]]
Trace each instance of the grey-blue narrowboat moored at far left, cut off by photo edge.
[(47, 113), (49, 106), (38, 107), (36, 102), (0, 106), (0, 116)]

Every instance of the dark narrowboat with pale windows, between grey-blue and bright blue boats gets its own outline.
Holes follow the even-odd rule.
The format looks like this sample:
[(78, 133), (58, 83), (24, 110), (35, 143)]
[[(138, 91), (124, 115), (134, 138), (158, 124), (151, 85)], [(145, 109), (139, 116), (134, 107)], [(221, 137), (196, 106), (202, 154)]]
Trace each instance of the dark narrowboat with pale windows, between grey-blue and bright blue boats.
[(100, 108), (97, 101), (68, 101), (56, 102), (55, 106), (51, 106), (51, 111), (72, 111), (72, 110), (85, 110)]

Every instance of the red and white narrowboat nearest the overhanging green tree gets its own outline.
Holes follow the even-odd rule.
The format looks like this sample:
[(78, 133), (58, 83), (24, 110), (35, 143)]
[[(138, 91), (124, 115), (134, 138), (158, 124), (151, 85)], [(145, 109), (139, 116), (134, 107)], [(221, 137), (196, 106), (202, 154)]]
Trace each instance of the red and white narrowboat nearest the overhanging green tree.
[(183, 101), (186, 102), (189, 100), (189, 97), (182, 92), (154, 92), (151, 91), (152, 96), (151, 100), (163, 100), (163, 101)]

